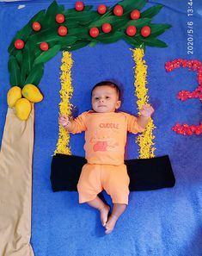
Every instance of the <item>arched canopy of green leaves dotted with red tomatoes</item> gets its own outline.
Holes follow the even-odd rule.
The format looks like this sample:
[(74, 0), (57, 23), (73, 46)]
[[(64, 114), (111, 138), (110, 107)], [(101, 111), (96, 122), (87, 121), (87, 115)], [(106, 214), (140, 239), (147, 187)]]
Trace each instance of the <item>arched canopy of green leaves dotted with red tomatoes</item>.
[(71, 52), (121, 39), (134, 48), (167, 47), (157, 36), (171, 26), (151, 23), (162, 5), (141, 12), (146, 2), (123, 0), (113, 7), (102, 4), (95, 10), (93, 6), (79, 10), (78, 3), (73, 9), (64, 9), (53, 1), (47, 10), (41, 10), (21, 28), (10, 43), (10, 85), (23, 88), (25, 84), (40, 84), (46, 61), (59, 51)]

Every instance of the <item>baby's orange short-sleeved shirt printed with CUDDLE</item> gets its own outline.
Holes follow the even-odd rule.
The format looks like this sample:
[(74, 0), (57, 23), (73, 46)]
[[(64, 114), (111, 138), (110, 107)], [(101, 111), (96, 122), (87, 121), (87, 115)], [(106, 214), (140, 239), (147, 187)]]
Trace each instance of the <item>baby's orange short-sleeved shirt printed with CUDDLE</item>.
[(83, 112), (74, 119), (72, 134), (85, 131), (85, 153), (89, 164), (122, 165), (127, 131), (142, 132), (137, 117), (125, 112)]

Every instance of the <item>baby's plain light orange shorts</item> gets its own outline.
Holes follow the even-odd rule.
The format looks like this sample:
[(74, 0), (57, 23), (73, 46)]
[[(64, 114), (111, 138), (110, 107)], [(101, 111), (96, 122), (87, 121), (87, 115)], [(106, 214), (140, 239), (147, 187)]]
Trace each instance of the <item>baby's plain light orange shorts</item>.
[(83, 165), (77, 184), (79, 203), (92, 201), (106, 190), (113, 203), (128, 204), (129, 182), (126, 165)]

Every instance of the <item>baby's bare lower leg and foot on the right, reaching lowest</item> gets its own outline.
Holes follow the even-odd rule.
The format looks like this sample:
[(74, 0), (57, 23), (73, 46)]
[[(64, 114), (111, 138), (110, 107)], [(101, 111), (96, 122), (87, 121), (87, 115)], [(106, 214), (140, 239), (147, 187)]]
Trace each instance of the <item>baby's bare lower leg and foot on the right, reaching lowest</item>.
[(126, 208), (126, 204), (123, 203), (114, 203), (112, 215), (108, 218), (108, 221), (105, 225), (106, 231), (105, 234), (110, 234), (113, 232), (116, 222), (119, 219), (119, 216), (123, 214)]

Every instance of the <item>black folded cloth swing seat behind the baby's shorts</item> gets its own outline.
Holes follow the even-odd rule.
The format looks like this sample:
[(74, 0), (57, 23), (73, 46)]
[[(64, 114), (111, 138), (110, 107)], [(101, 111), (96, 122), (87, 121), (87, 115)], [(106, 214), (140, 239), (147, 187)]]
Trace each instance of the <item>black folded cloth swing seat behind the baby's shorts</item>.
[[(86, 159), (57, 153), (52, 157), (51, 184), (54, 192), (77, 191), (77, 182)], [(175, 178), (168, 155), (152, 159), (125, 160), (131, 191), (174, 187)]]

